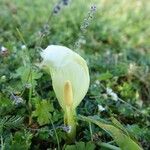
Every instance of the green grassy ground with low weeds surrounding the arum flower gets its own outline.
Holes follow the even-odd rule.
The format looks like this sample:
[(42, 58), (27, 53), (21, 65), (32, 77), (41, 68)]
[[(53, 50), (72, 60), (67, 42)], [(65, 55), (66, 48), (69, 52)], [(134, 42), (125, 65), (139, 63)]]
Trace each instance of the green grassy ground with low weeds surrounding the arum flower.
[[(71, 145), (51, 77), (37, 67), (52, 44), (79, 53), (90, 71)], [(134, 150), (124, 136), (150, 148), (150, 2), (0, 0), (0, 149)]]

